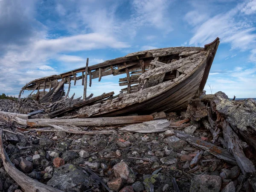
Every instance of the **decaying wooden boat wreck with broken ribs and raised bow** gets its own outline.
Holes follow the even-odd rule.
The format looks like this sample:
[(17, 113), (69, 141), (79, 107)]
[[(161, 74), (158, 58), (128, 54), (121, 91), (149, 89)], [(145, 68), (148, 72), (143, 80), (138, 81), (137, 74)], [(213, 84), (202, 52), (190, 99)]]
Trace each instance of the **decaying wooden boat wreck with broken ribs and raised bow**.
[[(100, 64), (81, 67), (60, 75), (47, 76), (26, 84), (20, 91), (32, 90), (36, 100), (44, 103), (63, 103), (49, 111), (50, 118), (74, 112), (76, 117), (119, 116), (138, 113), (150, 114), (159, 111), (175, 111), (186, 108), (189, 100), (201, 95), (209, 70), (218, 49), (219, 38), (203, 47), (169, 47), (130, 53), (124, 57), (108, 60)], [(81, 76), (78, 74), (81, 73)], [(123, 88), (119, 95), (103, 94), (87, 97), (88, 84), (92, 79), (101, 81), (104, 76), (126, 74), (119, 79)], [(71, 81), (82, 79), (83, 99), (67, 99)], [(68, 84), (64, 96), (64, 84)], [(47, 92), (48, 90), (48, 92)], [(29, 95), (32, 96), (32, 93)], [(20, 96), (19, 96), (20, 99)], [(52, 106), (52, 105), (51, 105)]]

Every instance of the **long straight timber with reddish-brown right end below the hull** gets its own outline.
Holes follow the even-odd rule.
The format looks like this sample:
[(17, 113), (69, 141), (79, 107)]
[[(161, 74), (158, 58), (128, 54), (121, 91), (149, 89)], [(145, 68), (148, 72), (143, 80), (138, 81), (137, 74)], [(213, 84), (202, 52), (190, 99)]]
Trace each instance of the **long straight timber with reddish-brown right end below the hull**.
[(74, 126), (107, 126), (141, 123), (153, 120), (152, 115), (98, 117), (85, 119), (28, 119), (28, 126), (52, 127), (51, 125), (74, 125)]

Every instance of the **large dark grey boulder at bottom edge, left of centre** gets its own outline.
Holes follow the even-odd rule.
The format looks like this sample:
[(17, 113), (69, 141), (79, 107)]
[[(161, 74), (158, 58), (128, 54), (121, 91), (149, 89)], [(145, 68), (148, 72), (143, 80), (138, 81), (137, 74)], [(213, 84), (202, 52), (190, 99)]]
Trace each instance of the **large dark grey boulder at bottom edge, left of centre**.
[(63, 191), (81, 192), (90, 189), (92, 181), (83, 171), (73, 164), (67, 163), (55, 169), (53, 177), (47, 185)]

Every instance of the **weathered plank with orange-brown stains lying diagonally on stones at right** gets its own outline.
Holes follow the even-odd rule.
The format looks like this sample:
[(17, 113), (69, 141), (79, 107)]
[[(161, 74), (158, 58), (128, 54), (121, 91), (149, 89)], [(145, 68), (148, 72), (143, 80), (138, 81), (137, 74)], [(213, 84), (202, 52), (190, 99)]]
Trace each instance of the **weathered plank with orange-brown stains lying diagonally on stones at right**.
[(233, 165), (237, 165), (236, 159), (233, 157), (232, 154), (230, 154), (227, 151), (227, 149), (218, 147), (217, 145), (197, 139), (195, 137), (191, 137), (188, 134), (183, 134), (180, 131), (174, 131), (174, 132), (175, 132), (176, 137), (186, 141), (190, 145), (204, 149), (205, 151), (208, 151), (210, 154), (214, 155), (215, 157), (217, 157), (219, 159), (227, 161), (228, 163), (231, 163)]

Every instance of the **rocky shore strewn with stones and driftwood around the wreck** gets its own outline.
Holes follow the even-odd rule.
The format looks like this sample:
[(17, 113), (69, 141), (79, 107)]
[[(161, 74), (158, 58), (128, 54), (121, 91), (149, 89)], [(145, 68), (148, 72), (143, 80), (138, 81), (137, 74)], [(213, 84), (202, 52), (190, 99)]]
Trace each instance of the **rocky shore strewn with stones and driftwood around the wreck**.
[[(19, 109), (14, 101), (0, 100), (1, 111), (29, 113), (41, 108)], [(256, 189), (255, 100), (232, 102), (218, 92), (195, 99), (185, 111), (152, 115), (154, 120), (148, 125), (79, 127), (83, 131), (111, 130), (111, 134), (28, 129), (4, 115), (0, 128), (5, 151), (18, 170), (66, 192)], [(175, 122), (183, 126), (175, 127)], [(0, 191), (23, 191), (2, 160)]]

